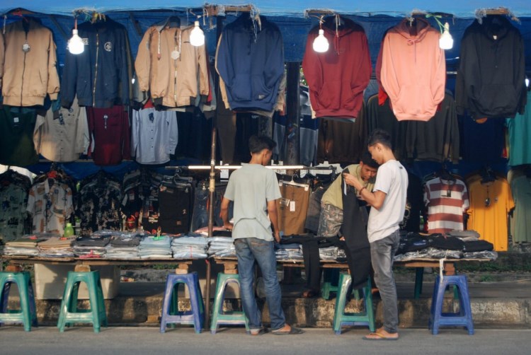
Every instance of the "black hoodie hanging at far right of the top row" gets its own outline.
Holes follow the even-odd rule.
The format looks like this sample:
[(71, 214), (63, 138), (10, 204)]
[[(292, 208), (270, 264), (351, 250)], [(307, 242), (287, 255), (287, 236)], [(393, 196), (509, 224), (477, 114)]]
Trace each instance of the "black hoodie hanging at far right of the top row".
[(523, 114), (525, 95), (524, 42), (518, 28), (503, 16), (487, 16), (464, 31), (455, 100), (457, 113), (483, 117)]

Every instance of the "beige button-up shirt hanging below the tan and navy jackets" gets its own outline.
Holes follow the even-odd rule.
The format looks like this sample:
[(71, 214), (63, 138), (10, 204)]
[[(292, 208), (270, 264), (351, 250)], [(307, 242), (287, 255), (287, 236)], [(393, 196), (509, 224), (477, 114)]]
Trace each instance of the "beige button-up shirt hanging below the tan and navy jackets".
[(89, 126), (85, 107), (79, 107), (77, 99), (72, 107), (51, 108), (44, 117), (38, 115), (33, 135), (35, 149), (49, 161), (69, 162), (89, 147)]

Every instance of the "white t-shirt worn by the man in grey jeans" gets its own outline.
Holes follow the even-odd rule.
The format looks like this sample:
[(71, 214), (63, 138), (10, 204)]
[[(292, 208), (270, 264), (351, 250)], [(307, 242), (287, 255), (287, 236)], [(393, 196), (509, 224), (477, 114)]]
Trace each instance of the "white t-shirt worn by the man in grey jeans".
[(374, 192), (384, 192), (384, 203), (379, 210), (371, 207), (367, 223), (369, 243), (383, 239), (399, 228), (404, 219), (408, 190), (408, 173), (398, 161), (387, 161), (378, 168)]

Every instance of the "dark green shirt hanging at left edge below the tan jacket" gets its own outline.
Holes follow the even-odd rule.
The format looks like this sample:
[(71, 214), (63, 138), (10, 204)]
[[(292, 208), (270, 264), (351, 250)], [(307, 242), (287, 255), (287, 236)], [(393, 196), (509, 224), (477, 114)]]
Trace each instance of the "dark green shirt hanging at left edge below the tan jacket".
[(16, 113), (7, 105), (0, 109), (0, 164), (25, 166), (38, 162), (33, 145), (34, 129), (33, 110)]

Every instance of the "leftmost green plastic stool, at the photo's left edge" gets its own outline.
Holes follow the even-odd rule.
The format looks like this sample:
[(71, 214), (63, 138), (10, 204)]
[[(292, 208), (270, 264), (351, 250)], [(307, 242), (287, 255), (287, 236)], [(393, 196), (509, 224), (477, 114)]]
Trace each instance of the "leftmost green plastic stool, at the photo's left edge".
[[(9, 291), (13, 282), (18, 287), (20, 312), (7, 309)], [(0, 323), (23, 323), (26, 332), (30, 332), (32, 325), (38, 326), (35, 296), (29, 272), (0, 272), (0, 290)]]

